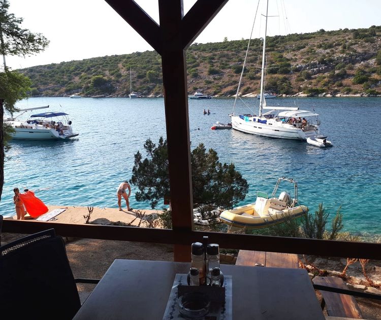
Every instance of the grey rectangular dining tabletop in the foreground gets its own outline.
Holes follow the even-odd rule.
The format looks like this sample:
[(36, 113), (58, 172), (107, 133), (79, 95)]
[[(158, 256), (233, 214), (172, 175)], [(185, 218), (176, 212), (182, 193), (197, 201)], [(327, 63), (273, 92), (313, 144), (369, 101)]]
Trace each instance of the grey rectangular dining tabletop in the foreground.
[[(163, 319), (174, 278), (190, 263), (116, 259), (75, 320)], [(233, 319), (325, 319), (304, 269), (220, 265), (232, 277)]]

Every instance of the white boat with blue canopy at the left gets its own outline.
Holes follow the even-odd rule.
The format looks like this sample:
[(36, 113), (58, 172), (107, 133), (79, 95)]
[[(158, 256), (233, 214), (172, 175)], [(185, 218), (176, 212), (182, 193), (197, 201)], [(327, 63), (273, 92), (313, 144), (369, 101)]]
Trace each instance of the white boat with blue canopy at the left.
[[(24, 113), (29, 110), (43, 108), (49, 108), (49, 106), (21, 109), (19, 111)], [(72, 121), (69, 120), (68, 114), (65, 112), (32, 114), (27, 120), (17, 120), (17, 117), (14, 118), (13, 114), (11, 114), (10, 118), (4, 119), (4, 123), (10, 125), (14, 130), (11, 134), (12, 139), (69, 140), (79, 135), (78, 133), (73, 133)]]

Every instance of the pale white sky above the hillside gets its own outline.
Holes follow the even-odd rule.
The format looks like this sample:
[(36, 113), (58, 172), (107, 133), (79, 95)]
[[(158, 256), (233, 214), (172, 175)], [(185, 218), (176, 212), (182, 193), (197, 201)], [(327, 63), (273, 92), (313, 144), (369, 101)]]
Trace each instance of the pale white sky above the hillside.
[[(204, 0), (209, 1), (209, 0)], [(157, 0), (136, 0), (158, 24)], [(186, 13), (196, 0), (183, 0)], [(23, 28), (43, 34), (49, 47), (34, 56), (7, 56), (7, 66), (27, 68), (62, 61), (153, 50), (104, 0), (9, 0), (9, 12)], [(230, 0), (195, 40), (198, 43), (248, 39), (258, 0)], [(265, 14), (266, 4), (259, 13)], [(285, 14), (284, 14), (285, 13)], [(267, 35), (309, 33), (319, 29), (381, 25), (380, 0), (270, 0)], [(283, 18), (287, 17), (287, 18)], [(257, 18), (252, 38), (263, 36)]]

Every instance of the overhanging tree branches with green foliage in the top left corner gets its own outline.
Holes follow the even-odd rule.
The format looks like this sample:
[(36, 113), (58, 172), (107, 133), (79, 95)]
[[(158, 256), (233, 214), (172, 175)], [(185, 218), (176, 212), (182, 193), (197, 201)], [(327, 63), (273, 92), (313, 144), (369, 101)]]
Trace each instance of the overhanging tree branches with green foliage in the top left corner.
[(8, 9), (8, 0), (0, 0), (0, 54), (25, 56), (44, 50), (49, 41), (41, 34), (22, 29), (23, 19), (16, 18)]

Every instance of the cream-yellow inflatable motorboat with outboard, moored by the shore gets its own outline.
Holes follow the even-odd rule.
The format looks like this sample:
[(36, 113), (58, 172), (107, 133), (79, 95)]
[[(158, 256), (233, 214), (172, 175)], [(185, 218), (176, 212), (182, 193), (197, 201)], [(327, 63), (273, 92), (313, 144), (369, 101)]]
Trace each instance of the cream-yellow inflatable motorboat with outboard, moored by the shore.
[[(277, 197), (279, 184), (289, 182), (294, 187), (294, 198), (290, 193), (282, 191)], [(298, 203), (298, 184), (295, 180), (281, 177), (277, 180), (270, 197), (262, 191), (257, 192), (255, 203), (225, 210), (219, 215), (221, 222), (230, 230), (261, 229), (284, 222), (286, 219), (299, 218), (308, 212), (308, 207)]]

